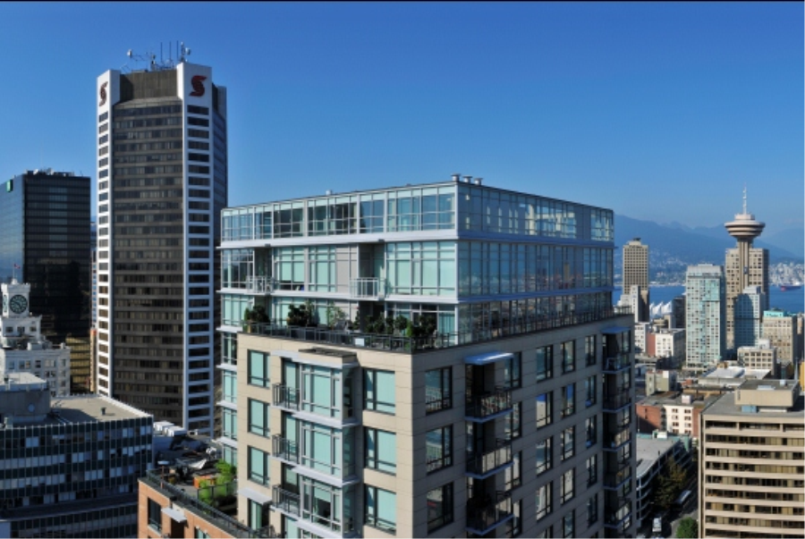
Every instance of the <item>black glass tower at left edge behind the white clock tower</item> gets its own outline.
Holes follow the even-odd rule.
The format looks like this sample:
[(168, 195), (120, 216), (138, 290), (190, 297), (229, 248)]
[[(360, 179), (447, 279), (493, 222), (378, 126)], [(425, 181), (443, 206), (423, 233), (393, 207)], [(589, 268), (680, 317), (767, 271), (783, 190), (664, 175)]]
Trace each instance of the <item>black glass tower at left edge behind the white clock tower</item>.
[(71, 348), (71, 392), (89, 392), (89, 178), (31, 170), (0, 193), (0, 277), (30, 283), (41, 333)]

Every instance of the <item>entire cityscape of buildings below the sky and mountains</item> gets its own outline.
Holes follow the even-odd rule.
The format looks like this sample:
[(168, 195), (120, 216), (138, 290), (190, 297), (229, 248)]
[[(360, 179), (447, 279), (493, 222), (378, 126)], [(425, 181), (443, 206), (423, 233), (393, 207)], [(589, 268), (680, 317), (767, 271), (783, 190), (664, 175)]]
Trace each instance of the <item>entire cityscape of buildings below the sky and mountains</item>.
[(655, 308), (608, 208), (461, 174), (228, 206), (212, 68), (96, 91), (96, 222), (86, 176), (0, 197), (0, 536), (801, 535), (805, 314), (745, 192)]

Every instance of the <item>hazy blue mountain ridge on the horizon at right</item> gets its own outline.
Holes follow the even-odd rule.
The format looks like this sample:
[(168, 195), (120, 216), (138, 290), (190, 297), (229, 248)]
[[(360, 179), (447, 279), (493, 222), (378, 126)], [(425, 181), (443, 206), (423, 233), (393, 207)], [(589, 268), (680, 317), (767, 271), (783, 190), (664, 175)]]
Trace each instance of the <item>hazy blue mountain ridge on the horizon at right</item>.
[[(659, 258), (682, 265), (724, 265), (724, 251), (735, 247), (735, 240), (723, 226), (690, 228), (681, 223), (659, 224), (615, 215), (614, 228), (616, 251), (620, 251), (629, 240), (640, 238), (643, 243), (648, 244), (652, 265)], [(773, 238), (775, 244), (760, 239), (755, 241), (755, 247), (769, 250), (771, 263), (805, 261), (805, 245), (802, 245), (805, 243), (802, 241), (805, 239), (805, 231), (801, 231), (799, 237), (796, 231), (784, 231)], [(792, 240), (796, 247), (792, 250), (780, 247), (777, 238), (786, 240), (786, 244)]]

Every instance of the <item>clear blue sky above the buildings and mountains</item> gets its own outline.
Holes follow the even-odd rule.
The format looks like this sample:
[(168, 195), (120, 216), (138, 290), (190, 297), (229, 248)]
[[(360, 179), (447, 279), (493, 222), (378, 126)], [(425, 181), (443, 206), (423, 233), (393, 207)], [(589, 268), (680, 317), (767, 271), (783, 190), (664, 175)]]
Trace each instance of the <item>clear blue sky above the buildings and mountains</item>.
[[(805, 228), (805, 4), (0, 4), (0, 172), (95, 175), (97, 75), (184, 41), (229, 91), (231, 206), (482, 176)], [(93, 212), (94, 214), (94, 212)]]

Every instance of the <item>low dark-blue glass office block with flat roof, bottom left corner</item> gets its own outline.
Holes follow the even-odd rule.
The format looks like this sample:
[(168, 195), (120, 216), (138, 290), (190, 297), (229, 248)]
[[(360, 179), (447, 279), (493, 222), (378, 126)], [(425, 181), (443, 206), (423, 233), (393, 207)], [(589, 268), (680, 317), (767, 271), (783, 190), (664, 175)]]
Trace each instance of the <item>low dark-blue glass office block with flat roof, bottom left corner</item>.
[(29, 373), (0, 385), (0, 537), (137, 537), (153, 418), (96, 395), (51, 399)]

